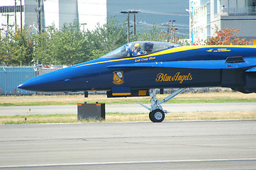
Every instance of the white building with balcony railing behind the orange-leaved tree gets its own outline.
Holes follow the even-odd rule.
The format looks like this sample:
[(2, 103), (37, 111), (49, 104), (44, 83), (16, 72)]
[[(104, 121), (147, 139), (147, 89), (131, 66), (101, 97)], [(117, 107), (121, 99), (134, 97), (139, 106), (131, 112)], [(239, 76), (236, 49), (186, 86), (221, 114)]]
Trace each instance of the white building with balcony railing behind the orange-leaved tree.
[(256, 0), (189, 0), (192, 42), (213, 36), (219, 29), (240, 29), (238, 36), (256, 39)]

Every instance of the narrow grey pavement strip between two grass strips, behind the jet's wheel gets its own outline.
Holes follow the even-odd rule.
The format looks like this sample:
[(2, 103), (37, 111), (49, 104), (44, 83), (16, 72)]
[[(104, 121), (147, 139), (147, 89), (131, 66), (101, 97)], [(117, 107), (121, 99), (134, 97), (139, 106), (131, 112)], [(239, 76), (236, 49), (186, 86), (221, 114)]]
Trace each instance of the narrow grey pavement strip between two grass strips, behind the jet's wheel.
[[(146, 105), (150, 107), (150, 105)], [(162, 104), (170, 113), (201, 111), (256, 111), (256, 103), (167, 103)], [(148, 109), (139, 104), (106, 105), (107, 113), (148, 113)], [(77, 114), (76, 105), (66, 106), (6, 106), (0, 107), (0, 115), (27, 114)]]

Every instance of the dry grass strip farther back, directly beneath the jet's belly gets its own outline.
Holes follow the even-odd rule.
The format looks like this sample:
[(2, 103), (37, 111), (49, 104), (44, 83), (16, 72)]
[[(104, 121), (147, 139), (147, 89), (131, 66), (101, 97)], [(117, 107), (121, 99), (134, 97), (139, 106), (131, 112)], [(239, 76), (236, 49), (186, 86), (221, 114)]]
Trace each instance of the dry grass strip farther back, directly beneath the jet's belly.
[[(157, 95), (161, 101), (165, 95)], [(0, 106), (52, 106), (77, 105), (77, 103), (106, 103), (106, 104), (133, 104), (150, 103), (150, 97), (106, 98), (106, 95), (84, 96), (0, 96)], [(198, 94), (179, 94), (169, 103), (240, 103), (256, 102), (256, 94), (241, 94), (239, 92), (211, 92)]]

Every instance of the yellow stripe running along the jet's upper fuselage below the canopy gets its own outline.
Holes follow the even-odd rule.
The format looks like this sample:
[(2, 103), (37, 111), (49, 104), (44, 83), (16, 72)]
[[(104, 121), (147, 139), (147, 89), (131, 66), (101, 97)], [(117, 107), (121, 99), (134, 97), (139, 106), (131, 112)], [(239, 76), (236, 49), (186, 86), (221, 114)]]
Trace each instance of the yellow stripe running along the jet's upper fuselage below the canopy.
[(142, 56), (137, 56), (137, 57), (127, 57), (127, 58), (121, 58), (121, 59), (116, 59), (116, 60), (108, 60), (104, 62), (93, 62), (89, 64), (82, 64), (77, 67), (83, 67), (83, 66), (88, 66), (88, 65), (93, 65), (93, 64), (102, 64), (106, 62), (119, 62), (119, 61), (124, 61), (124, 60), (134, 60), (134, 59), (139, 59), (139, 58), (145, 58), (145, 57), (154, 57), (158, 55), (165, 55), (165, 54), (170, 54), (174, 52), (183, 52), (183, 51), (188, 51), (188, 50), (196, 50), (196, 49), (201, 49), (201, 48), (211, 48), (211, 47), (240, 47), (240, 48), (256, 48), (255, 45), (191, 45), (191, 46), (180, 46), (180, 47), (173, 47), (167, 50), (162, 50), (160, 52), (155, 52), (149, 55), (142, 55)]

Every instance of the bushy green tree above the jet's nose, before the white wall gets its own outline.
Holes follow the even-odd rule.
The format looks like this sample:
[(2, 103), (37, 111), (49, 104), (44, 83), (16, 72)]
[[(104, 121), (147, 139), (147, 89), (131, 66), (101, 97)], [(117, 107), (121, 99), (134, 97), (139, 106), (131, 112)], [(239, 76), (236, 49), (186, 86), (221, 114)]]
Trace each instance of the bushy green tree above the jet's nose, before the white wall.
[(79, 23), (65, 23), (61, 30), (49, 27), (37, 36), (35, 60), (42, 64), (73, 65), (89, 60), (86, 39), (79, 30)]

